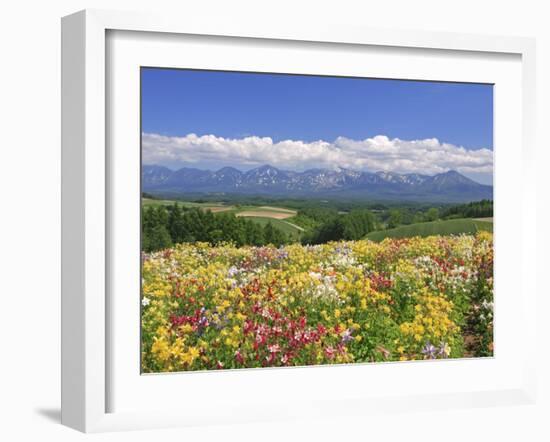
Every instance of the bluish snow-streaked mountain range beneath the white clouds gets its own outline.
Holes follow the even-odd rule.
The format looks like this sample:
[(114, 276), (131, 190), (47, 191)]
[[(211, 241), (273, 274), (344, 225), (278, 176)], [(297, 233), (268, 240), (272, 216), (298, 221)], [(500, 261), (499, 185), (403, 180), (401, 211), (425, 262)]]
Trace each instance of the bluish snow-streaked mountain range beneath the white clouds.
[(465, 202), (492, 199), (493, 187), (450, 170), (437, 175), (350, 169), (281, 170), (270, 165), (242, 172), (143, 165), (142, 190), (155, 194), (245, 194), (274, 197)]

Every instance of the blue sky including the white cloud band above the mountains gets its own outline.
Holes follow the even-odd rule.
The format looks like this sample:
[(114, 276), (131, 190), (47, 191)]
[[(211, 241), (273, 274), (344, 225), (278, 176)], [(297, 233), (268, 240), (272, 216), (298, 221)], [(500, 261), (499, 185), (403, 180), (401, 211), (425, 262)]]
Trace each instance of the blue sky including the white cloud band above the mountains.
[[(167, 166), (247, 169), (277, 160), (268, 151), (284, 156), (305, 143), (309, 153), (303, 158), (294, 155), (294, 163), (278, 165), (349, 166), (347, 157), (359, 155), (362, 169), (456, 168), (483, 182), (492, 172), (491, 85), (158, 68), (143, 68), (141, 80), (144, 157)], [(385, 138), (375, 138), (380, 135)], [(287, 140), (298, 144), (284, 144)], [(328, 144), (311, 144), (319, 141)], [(382, 161), (380, 149), (386, 149), (388, 161)], [(426, 152), (433, 167), (418, 165)]]

